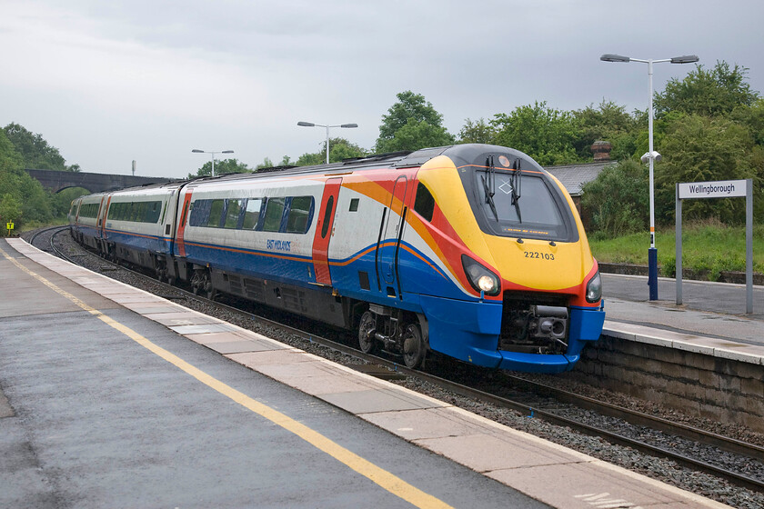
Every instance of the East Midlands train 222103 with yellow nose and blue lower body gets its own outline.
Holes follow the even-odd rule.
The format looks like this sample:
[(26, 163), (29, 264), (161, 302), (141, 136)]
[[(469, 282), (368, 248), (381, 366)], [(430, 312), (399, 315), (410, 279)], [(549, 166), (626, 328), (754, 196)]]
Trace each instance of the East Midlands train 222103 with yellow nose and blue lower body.
[(562, 373), (605, 319), (570, 195), (497, 145), (95, 193), (69, 224), (100, 255), (351, 330), (412, 368), (442, 354)]

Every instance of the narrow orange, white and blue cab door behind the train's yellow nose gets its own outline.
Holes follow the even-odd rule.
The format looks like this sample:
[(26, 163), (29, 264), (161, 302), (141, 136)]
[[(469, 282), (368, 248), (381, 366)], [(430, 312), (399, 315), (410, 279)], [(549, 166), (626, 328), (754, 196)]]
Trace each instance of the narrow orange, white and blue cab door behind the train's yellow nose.
[(392, 297), (396, 296), (396, 287), (400, 294), (400, 284), (397, 282), (397, 255), (405, 219), (403, 203), (407, 184), (406, 175), (397, 177), (393, 194), (390, 195), (390, 206), (382, 218), (381, 235), (377, 244), (377, 274), (381, 278), (380, 286), (382, 291)]

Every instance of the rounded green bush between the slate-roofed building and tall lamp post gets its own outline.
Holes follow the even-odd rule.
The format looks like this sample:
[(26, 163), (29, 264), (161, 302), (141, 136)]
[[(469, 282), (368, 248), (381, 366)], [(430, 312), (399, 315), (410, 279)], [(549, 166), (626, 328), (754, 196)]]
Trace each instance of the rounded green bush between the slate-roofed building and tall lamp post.
[(627, 159), (606, 166), (581, 188), (581, 210), (591, 217), (591, 230), (618, 236), (647, 230), (648, 170)]

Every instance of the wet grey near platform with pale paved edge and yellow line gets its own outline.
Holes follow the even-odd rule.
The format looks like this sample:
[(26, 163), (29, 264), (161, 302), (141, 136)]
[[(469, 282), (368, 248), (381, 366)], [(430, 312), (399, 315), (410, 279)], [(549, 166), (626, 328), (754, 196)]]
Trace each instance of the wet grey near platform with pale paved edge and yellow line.
[(0, 284), (0, 506), (726, 507), (20, 239)]

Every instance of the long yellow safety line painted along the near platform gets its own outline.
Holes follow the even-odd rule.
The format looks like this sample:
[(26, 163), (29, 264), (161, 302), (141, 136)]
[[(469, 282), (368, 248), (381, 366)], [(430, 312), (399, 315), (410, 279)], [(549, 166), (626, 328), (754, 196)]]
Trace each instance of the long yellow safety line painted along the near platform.
[(435, 496), (431, 494), (426, 494), (422, 490), (418, 489), (415, 486), (412, 486), (411, 484), (408, 484), (406, 481), (400, 479), (396, 475), (390, 474), (389, 472), (387, 472), (387, 470), (380, 468), (376, 464), (373, 464), (369, 462), (368, 460), (362, 458), (361, 456), (347, 450), (342, 445), (337, 444), (336, 442), (328, 439), (326, 436), (318, 433), (317, 431), (314, 431), (313, 429), (309, 428), (307, 425), (301, 424), (297, 422), (295, 419), (292, 419), (291, 417), (285, 414), (282, 414), (281, 412), (278, 412), (277, 410), (274, 410), (273, 408), (267, 406), (266, 404), (262, 404), (256, 401), (255, 399), (247, 396), (246, 394), (240, 393), (233, 387), (230, 387), (224, 384), (223, 382), (220, 382), (216, 378), (210, 376), (209, 374), (206, 374), (204, 371), (200, 370), (196, 366), (186, 363), (186, 361), (178, 357), (176, 354), (171, 354), (170, 352), (168, 352), (161, 346), (158, 346), (157, 344), (152, 343), (151, 341), (146, 339), (146, 337), (136, 333), (136, 331), (132, 330), (130, 327), (127, 327), (124, 324), (120, 324), (113, 318), (107, 316), (106, 314), (101, 313), (94, 307), (91, 307), (90, 305), (85, 304), (85, 302), (75, 297), (75, 295), (70, 294), (69, 292), (66, 292), (64, 289), (59, 288), (55, 284), (51, 283), (50, 281), (45, 279), (45, 277), (29, 270), (24, 265), (17, 262), (14, 258), (7, 255), (2, 248), (0, 248), (0, 253), (2, 253), (2, 255), (5, 256), (5, 258), (7, 258), (11, 263), (15, 264), (19, 269), (24, 271), (26, 274), (31, 275), (36, 280), (45, 284), (45, 286), (54, 290), (57, 294), (63, 295), (65, 298), (67, 298), (74, 304), (78, 305), (79, 307), (84, 309), (86, 312), (95, 315), (102, 322), (115, 328), (117, 331), (121, 332), (122, 334), (125, 334), (127, 337), (135, 341), (137, 344), (144, 346), (146, 349), (148, 349), (152, 353), (165, 359), (168, 363), (173, 364), (176, 367), (180, 368), (181, 370), (185, 371), (187, 374), (190, 374), (202, 384), (205, 384), (208, 387), (215, 389), (220, 394), (226, 395), (228, 398), (232, 399), (237, 404), (241, 404), (246, 409), (254, 412), (255, 414), (265, 417), (268, 421), (271, 421), (274, 424), (278, 424), (282, 428), (286, 429), (286, 431), (289, 431), (293, 434), (297, 434), (297, 436), (305, 440), (308, 444), (311, 444), (317, 449), (325, 452), (326, 454), (329, 454), (340, 463), (346, 464), (349, 468), (351, 468), (352, 470), (355, 470), (358, 474), (361, 474), (364, 477), (367, 477), (367, 479), (378, 484), (379, 486), (387, 490), (389, 493), (395, 494), (396, 496), (407, 501), (409, 504), (415, 505), (417, 507), (422, 507), (427, 509), (430, 509), (430, 508), (445, 509), (445, 508), (451, 507), (450, 505), (446, 504), (445, 502), (441, 501)]

